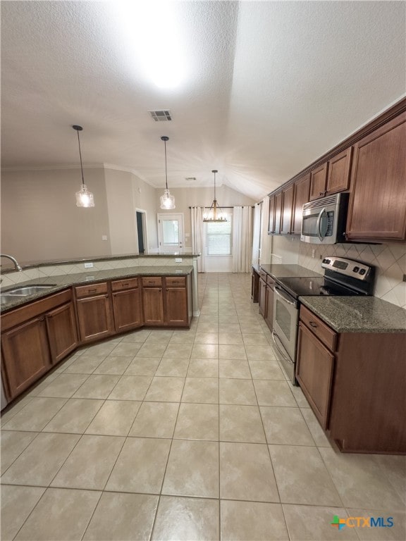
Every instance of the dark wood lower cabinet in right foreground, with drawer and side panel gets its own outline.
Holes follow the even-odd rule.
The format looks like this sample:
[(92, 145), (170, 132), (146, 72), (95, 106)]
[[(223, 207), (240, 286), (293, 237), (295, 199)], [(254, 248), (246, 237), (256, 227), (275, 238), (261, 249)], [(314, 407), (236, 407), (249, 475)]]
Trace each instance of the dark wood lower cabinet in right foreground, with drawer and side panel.
[(405, 333), (336, 333), (300, 309), (297, 381), (343, 452), (406, 454)]

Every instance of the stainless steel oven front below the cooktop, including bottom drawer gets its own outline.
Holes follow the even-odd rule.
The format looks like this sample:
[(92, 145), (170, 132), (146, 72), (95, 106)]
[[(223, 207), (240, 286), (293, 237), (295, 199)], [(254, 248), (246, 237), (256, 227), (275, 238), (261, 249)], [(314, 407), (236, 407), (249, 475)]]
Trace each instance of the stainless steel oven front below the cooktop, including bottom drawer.
[(298, 321), (299, 303), (285, 290), (275, 285), (272, 339), (278, 351), (278, 358), (294, 385), (296, 384), (295, 361)]

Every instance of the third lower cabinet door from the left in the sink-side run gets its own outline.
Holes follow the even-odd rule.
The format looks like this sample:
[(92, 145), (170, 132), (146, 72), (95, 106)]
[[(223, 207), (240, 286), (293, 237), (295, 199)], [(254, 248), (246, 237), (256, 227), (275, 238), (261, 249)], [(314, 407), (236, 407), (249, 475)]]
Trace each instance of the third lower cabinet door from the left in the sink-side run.
[(113, 332), (109, 295), (77, 299), (81, 342), (92, 342)]

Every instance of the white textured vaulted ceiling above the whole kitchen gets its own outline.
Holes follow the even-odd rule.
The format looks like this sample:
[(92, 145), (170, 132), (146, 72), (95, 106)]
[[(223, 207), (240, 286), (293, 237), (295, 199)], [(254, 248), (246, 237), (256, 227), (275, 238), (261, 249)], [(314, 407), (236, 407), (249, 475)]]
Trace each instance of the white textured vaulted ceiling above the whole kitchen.
[(405, 52), (403, 1), (3, 1), (2, 166), (78, 165), (80, 124), (162, 187), (168, 135), (169, 187), (261, 199), (405, 95)]

